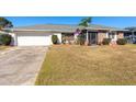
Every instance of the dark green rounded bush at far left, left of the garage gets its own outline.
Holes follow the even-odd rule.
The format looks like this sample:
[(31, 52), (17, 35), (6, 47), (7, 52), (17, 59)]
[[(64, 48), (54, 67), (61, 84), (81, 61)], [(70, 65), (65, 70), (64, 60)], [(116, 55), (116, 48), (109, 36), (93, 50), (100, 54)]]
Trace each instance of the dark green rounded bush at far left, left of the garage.
[(2, 34), (2, 35), (0, 35), (0, 43), (1, 43), (1, 45), (10, 45), (11, 38), (12, 37), (9, 34)]

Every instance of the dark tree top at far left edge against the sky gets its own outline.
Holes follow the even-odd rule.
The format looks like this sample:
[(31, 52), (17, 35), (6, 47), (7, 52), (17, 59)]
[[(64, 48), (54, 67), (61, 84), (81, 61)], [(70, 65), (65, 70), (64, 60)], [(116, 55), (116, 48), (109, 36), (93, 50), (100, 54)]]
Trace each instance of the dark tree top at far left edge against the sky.
[(11, 21), (7, 20), (5, 18), (0, 18), (0, 29), (3, 27), (13, 27), (13, 24)]

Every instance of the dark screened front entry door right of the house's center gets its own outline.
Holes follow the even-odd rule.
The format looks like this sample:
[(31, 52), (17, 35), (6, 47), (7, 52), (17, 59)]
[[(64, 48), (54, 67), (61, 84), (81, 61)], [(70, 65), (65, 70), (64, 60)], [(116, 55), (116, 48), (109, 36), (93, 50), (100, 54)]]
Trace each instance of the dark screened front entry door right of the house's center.
[(98, 33), (89, 33), (89, 45), (95, 45), (98, 43)]

